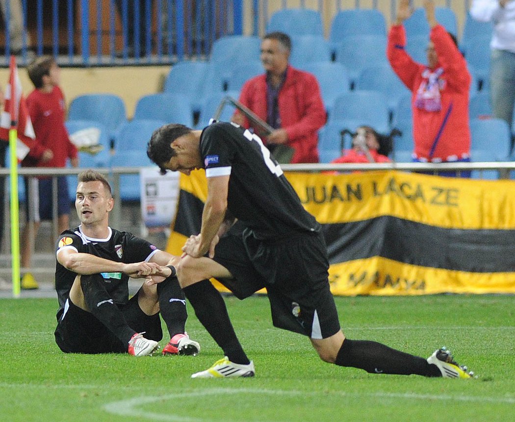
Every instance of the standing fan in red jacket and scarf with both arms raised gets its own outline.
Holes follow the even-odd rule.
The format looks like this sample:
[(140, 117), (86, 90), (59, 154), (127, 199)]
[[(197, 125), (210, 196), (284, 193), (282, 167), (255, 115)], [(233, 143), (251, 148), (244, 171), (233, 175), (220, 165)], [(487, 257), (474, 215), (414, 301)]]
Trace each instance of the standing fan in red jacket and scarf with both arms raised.
[[(427, 66), (406, 53), (402, 25), (413, 13), (409, 0), (401, 0), (397, 21), (388, 34), (387, 56), (402, 82), (413, 93), (414, 160), (419, 162), (470, 161), (469, 89), (471, 76), (465, 58), (435, 19), (432, 0), (424, 3), (431, 28)], [(461, 176), (469, 175), (461, 172)], [(441, 175), (451, 175), (449, 172)]]

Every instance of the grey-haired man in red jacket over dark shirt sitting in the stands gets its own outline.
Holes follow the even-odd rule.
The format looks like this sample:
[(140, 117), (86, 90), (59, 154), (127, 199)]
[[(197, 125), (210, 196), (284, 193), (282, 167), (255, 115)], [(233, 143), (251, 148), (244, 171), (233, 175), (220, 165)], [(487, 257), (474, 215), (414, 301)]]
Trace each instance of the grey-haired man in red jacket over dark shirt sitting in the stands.
[[(239, 101), (274, 128), (266, 137), (273, 153), (277, 145), (293, 148), (290, 163), (318, 163), (318, 129), (326, 114), (315, 76), (291, 67), (290, 38), (271, 32), (261, 43), (266, 73), (245, 82)], [(246, 128), (252, 124), (238, 111), (232, 120)], [(260, 128), (253, 128), (261, 135)]]

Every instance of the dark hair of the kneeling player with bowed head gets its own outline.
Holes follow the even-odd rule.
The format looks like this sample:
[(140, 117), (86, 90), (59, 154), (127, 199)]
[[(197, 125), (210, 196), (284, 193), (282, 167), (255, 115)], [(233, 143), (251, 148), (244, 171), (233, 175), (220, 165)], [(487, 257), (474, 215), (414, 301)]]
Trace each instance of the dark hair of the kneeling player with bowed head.
[(192, 129), (187, 126), (172, 123), (161, 126), (152, 133), (147, 145), (147, 155), (153, 163), (159, 166), (161, 174), (166, 173), (163, 164), (168, 163), (171, 157), (177, 155), (177, 152), (170, 144), (177, 138), (187, 135), (191, 131)]

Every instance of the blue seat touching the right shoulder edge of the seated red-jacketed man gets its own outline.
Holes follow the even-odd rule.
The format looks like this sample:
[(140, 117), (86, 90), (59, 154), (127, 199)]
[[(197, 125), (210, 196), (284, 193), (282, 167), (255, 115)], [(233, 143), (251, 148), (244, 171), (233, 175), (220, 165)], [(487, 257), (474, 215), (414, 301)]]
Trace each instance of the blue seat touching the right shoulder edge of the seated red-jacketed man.
[(306, 64), (303, 70), (317, 78), (325, 110), (330, 114), (336, 97), (350, 91), (347, 69), (341, 63), (315, 62)]

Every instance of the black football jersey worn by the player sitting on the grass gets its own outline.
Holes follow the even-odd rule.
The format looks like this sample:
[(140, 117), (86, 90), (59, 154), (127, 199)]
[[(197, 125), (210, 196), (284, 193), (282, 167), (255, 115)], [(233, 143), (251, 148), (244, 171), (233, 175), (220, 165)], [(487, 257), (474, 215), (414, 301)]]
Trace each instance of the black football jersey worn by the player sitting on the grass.
[[(63, 249), (71, 248), (79, 253), (96, 255), (111, 261), (133, 263), (148, 261), (158, 249), (150, 242), (134, 236), (132, 233), (119, 232), (109, 227), (109, 236), (106, 239), (94, 239), (82, 233), (81, 227), (65, 230), (57, 241), (56, 255)], [(106, 289), (113, 301), (125, 304), (129, 300), (129, 276), (123, 273), (101, 273), (104, 277)], [(56, 290), (61, 309), (77, 273), (64, 268), (56, 260)]]

